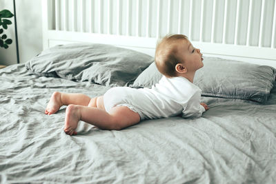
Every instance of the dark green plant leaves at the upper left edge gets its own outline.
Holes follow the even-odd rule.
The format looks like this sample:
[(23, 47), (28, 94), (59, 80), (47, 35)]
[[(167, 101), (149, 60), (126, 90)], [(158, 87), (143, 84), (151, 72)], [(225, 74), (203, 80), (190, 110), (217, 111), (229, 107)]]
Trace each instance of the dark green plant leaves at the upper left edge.
[(8, 45), (12, 44), (12, 39), (8, 39), (4, 30), (8, 29), (8, 25), (12, 24), (12, 21), (8, 20), (12, 18), (13, 14), (9, 10), (0, 11), (0, 47), (8, 48)]

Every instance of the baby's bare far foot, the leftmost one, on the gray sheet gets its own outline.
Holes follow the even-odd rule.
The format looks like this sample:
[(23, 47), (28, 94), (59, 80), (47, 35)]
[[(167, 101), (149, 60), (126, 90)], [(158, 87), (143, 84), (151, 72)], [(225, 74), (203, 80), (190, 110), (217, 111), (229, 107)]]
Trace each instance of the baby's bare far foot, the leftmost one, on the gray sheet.
[(45, 114), (55, 114), (63, 104), (61, 103), (61, 93), (54, 92), (45, 110)]

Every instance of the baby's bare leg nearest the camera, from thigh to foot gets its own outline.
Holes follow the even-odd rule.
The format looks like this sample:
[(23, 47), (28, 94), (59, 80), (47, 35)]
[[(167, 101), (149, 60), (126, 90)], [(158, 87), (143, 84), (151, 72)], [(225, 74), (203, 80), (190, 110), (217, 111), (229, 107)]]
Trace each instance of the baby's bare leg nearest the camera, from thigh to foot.
[(125, 106), (112, 108), (108, 113), (99, 108), (69, 105), (66, 109), (64, 125), (66, 134), (77, 134), (75, 130), (80, 120), (95, 125), (102, 130), (121, 130), (124, 127), (139, 123), (140, 116)]

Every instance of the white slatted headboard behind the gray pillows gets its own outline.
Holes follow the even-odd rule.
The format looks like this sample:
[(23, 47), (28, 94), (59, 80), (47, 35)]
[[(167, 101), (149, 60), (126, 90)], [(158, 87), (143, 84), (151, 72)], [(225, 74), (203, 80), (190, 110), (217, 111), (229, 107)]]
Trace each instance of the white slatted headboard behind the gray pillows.
[(43, 48), (75, 42), (150, 55), (164, 35), (186, 34), (206, 56), (276, 68), (275, 0), (42, 0)]

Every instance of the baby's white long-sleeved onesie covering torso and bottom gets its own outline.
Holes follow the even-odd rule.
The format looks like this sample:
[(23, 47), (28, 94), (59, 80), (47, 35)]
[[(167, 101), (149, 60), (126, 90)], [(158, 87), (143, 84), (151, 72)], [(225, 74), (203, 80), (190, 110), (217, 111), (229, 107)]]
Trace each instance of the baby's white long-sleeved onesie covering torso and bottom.
[(188, 79), (177, 76), (162, 76), (152, 88), (110, 88), (103, 95), (106, 112), (115, 106), (127, 106), (144, 119), (176, 116), (182, 112), (184, 118), (200, 117), (205, 109), (200, 105), (201, 90)]

